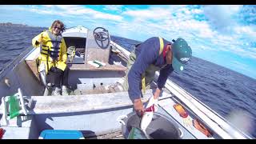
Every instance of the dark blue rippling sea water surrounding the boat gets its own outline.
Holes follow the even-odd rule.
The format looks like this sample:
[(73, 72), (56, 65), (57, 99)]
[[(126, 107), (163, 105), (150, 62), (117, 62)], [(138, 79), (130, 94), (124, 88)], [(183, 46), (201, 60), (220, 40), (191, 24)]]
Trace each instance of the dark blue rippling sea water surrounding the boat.
[[(32, 38), (45, 29), (0, 26), (0, 71), (22, 51), (30, 49)], [(127, 50), (138, 43), (117, 36), (112, 36), (111, 40)], [(237, 114), (241, 118), (236, 122), (249, 118), (249, 124), (242, 124), (242, 121), (240, 125), (249, 125), (252, 128), (250, 133), (256, 138), (255, 79), (195, 57), (191, 58), (182, 74), (173, 72), (169, 78), (222, 117), (230, 118), (230, 115)]]

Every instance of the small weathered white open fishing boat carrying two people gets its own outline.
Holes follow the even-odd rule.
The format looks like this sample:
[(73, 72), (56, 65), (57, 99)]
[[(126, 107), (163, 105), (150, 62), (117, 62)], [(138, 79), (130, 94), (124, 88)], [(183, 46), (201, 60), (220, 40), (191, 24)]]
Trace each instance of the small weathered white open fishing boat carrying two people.
[[(130, 52), (111, 41), (108, 31), (101, 27), (89, 30), (77, 26), (62, 35), (71, 51), (69, 82), (74, 90), (70, 90), (69, 96), (50, 96), (51, 90), (40, 82), (35, 61), (40, 49), (27, 49), (0, 74), (0, 127), (5, 131), (2, 138), (44, 138), (45, 130), (77, 130), (82, 138), (128, 138), (131, 127), (138, 126), (140, 119), (132, 112), (133, 104), (127, 91), (114, 84), (125, 76)], [(98, 62), (102, 66), (97, 66)], [(158, 75), (156, 72), (155, 80)], [(51, 79), (49, 74), (49, 86)], [(142, 102), (151, 97), (155, 87), (153, 82)], [(8, 96), (13, 94), (20, 106), (19, 114), (10, 118)], [(146, 132), (150, 138), (253, 138), (170, 79)]]

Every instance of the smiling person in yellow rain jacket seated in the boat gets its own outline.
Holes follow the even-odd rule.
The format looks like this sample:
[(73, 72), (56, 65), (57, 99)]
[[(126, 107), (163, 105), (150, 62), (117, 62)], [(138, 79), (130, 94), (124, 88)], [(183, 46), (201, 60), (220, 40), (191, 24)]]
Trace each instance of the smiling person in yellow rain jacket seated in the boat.
[[(69, 68), (66, 66), (66, 43), (62, 38), (62, 32), (65, 30), (64, 24), (56, 20), (52, 23), (49, 30), (43, 31), (32, 39), (34, 47), (40, 46), (40, 56), (38, 71), (45, 69), (54, 72), (54, 90), (53, 95), (68, 95), (66, 86), (68, 86)], [(42, 67), (43, 66), (43, 67)]]

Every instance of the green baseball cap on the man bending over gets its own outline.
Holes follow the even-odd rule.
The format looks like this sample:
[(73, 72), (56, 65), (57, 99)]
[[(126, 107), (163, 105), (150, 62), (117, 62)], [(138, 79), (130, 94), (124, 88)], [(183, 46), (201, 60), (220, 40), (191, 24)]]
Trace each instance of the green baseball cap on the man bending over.
[(173, 52), (172, 66), (174, 71), (181, 72), (184, 69), (184, 64), (188, 62), (192, 56), (191, 47), (183, 38), (178, 38), (172, 45)]

